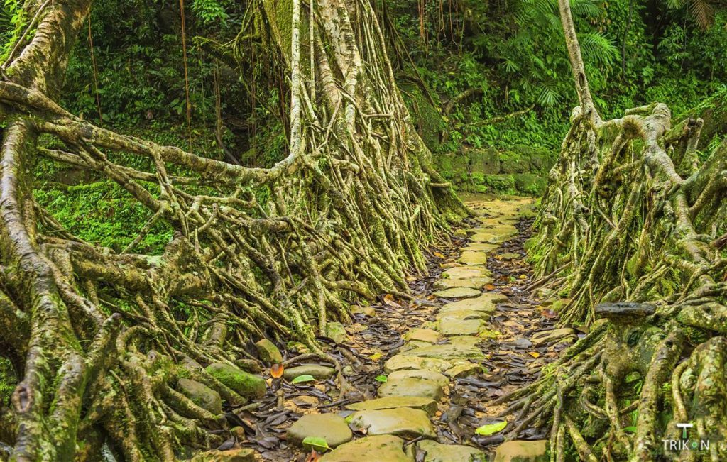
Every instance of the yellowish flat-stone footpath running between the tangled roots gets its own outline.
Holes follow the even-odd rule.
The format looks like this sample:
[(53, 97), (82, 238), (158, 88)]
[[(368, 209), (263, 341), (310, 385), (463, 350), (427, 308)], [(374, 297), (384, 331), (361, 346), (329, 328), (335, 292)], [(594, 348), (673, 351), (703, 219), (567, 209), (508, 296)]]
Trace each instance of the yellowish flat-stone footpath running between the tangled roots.
[[(465, 391), (457, 394), (458, 402), (453, 402), (454, 382), (484, 370), (490, 355), (483, 352), (483, 340), (500, 335), (491, 317), (496, 315), (498, 304), (508, 302), (508, 296), (492, 284), (489, 255), (518, 236), (515, 224), (533, 212), (531, 200), (527, 199), (491, 200), (470, 206), (478, 208), (479, 216), (468, 230), (467, 245), (457, 261), (443, 265), (446, 268), (433, 285), (433, 295), (444, 303), (430, 312), (430, 320), (403, 333), (401, 348), (385, 360), (377, 377), (383, 382), (377, 396), (348, 404), (343, 412), (302, 416), (288, 430), (289, 441), (325, 438), (333, 450), (326, 452), (321, 462), (486, 460), (487, 455), (478, 447), (443, 444), (459, 438), (453, 429), (457, 423), (452, 411), (462, 413), (467, 399), (473, 397)], [(498, 261), (522, 259), (522, 254), (500, 250)], [(527, 342), (526, 346), (532, 343), (515, 340)], [(531, 359), (538, 356), (531, 354)], [(472, 380), (475, 392), (484, 391), (484, 382)], [(472, 405), (476, 408), (479, 403)], [(489, 413), (480, 408), (478, 414)], [(448, 417), (451, 434), (442, 438), (438, 426)], [(354, 439), (354, 434), (359, 437)], [(517, 457), (522, 461), (541, 460), (545, 457), (545, 442), (507, 442), (498, 448), (494, 460)]]

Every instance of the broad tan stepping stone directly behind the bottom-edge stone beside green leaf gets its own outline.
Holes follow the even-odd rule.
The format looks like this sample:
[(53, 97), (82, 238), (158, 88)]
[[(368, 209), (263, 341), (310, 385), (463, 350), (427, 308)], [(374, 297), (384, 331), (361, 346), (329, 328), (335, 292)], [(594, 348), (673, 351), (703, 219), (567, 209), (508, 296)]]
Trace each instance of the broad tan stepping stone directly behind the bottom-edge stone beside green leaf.
[[(404, 438), (436, 438), (437, 431), (425, 411), (411, 408), (358, 410), (350, 416), (350, 423), (367, 434), (393, 434)], [(357, 461), (364, 460), (362, 458)], [(384, 458), (376, 458), (384, 461)]]

